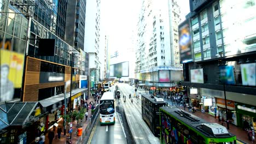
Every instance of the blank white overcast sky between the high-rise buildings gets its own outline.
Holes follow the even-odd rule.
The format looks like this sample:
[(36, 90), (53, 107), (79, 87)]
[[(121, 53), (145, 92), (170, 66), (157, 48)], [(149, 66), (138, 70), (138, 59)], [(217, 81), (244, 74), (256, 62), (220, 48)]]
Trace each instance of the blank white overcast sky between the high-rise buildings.
[[(91, 0), (94, 1), (94, 0)], [(158, 0), (164, 1), (164, 0)], [(189, 0), (178, 0), (181, 5), (181, 19), (189, 13)], [(140, 0), (102, 0), (101, 19), (106, 34), (109, 36), (110, 54), (116, 50), (129, 49), (129, 39), (136, 30)]]

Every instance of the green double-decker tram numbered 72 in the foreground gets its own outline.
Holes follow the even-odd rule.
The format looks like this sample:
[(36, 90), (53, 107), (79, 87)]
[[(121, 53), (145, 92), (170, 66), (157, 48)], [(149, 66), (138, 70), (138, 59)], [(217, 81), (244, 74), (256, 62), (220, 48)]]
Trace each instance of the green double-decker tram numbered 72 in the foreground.
[(223, 125), (208, 123), (177, 107), (160, 107), (161, 143), (236, 143)]

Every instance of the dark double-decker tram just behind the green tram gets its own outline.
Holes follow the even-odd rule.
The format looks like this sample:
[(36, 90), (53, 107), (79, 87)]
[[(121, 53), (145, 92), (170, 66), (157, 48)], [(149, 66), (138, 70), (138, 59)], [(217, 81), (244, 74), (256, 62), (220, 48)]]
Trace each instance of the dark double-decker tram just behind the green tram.
[(149, 94), (142, 94), (142, 119), (147, 123), (149, 129), (157, 137), (160, 136), (159, 107), (167, 105), (168, 104), (162, 98), (156, 98)]

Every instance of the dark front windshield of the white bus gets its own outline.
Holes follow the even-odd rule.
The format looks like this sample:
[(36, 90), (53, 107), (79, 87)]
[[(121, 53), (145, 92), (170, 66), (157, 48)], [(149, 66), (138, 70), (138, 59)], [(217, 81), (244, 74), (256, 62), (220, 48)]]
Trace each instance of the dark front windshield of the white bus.
[(102, 115), (111, 115), (115, 112), (114, 100), (101, 100), (100, 113)]

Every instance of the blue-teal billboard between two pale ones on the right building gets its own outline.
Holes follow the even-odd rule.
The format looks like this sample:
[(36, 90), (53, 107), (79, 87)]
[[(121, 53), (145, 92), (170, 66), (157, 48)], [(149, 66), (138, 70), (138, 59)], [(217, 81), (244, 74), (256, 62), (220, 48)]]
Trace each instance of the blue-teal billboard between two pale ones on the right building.
[(232, 65), (223, 65), (219, 67), (220, 82), (225, 84), (235, 84), (234, 67)]

